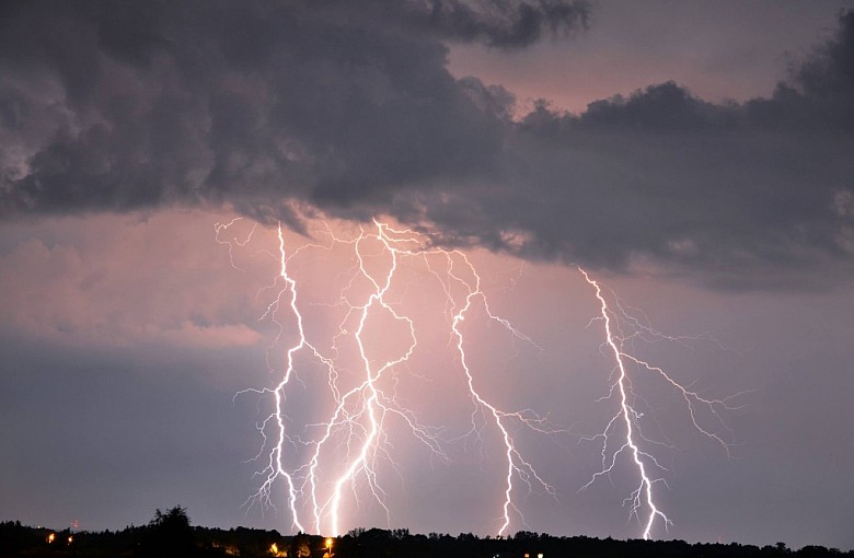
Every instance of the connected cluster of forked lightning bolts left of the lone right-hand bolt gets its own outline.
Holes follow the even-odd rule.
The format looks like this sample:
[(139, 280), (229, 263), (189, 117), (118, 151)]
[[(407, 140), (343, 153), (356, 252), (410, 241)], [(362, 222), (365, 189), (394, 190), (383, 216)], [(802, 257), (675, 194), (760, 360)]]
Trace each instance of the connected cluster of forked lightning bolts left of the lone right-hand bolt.
[[(231, 224), (231, 223), (229, 223)], [(393, 394), (385, 393), (379, 385), (383, 374), (394, 367), (406, 362), (413, 354), (417, 347), (417, 336), (409, 317), (401, 315), (394, 306), (386, 301), (386, 293), (391, 289), (392, 282), (397, 271), (399, 263), (402, 258), (423, 258), (427, 269), (432, 274), (437, 280), (439, 280), (442, 289), (448, 298), (447, 307), (453, 313), (451, 318), (451, 332), (455, 338), (457, 349), (459, 351), (459, 359), (463, 372), (465, 374), (465, 382), (469, 388), (472, 402), (475, 404), (475, 410), (473, 411), (473, 426), (470, 433), (473, 433), (478, 439), (484, 425), (477, 425), (474, 421), (474, 415), (480, 410), (485, 410), (487, 415), (492, 416), (495, 428), (497, 429), (499, 437), (504, 445), (504, 454), (506, 457), (506, 478), (504, 487), (504, 501), (501, 503), (501, 525), (498, 534), (505, 534), (506, 530), (511, 523), (511, 511), (515, 511), (520, 518), (522, 518), (520, 510), (513, 503), (513, 480), (519, 477), (529, 489), (532, 487), (532, 483), (539, 484), (547, 493), (555, 496), (555, 490), (536, 473), (534, 467), (522, 456), (522, 454), (516, 449), (516, 443), (510, 435), (506, 422), (509, 420), (517, 420), (521, 425), (524, 425), (538, 432), (544, 434), (552, 434), (556, 431), (549, 430), (544, 426), (544, 420), (538, 417), (532, 410), (524, 409), (521, 411), (507, 412), (500, 410), (495, 405), (491, 404), (481, 393), (475, 390), (475, 380), (466, 360), (464, 350), (465, 338), (461, 323), (465, 319), (466, 314), (472, 310), (476, 300), (480, 300), (486, 315), (489, 319), (498, 322), (501, 326), (508, 329), (511, 335), (533, 345), (533, 341), (515, 329), (512, 325), (492, 313), (489, 310), (487, 300), (483, 291), (481, 290), (481, 278), (477, 275), (474, 266), (469, 258), (459, 251), (445, 251), (440, 248), (425, 247), (423, 241), (418, 239), (417, 234), (404, 230), (397, 231), (391, 229), (384, 223), (374, 221), (377, 232), (367, 234), (363, 230), (355, 240), (341, 240), (335, 237), (327, 228), (327, 233), (333, 239), (333, 243), (344, 243), (354, 246), (354, 253), (358, 260), (358, 272), (350, 280), (349, 286), (354, 283), (357, 277), (367, 279), (371, 286), (370, 293), (366, 301), (360, 304), (353, 304), (342, 293), (341, 304), (346, 307), (346, 315), (338, 326), (342, 335), (347, 332), (346, 323), (353, 315), (358, 317), (358, 326), (353, 334), (353, 337), (358, 346), (359, 358), (361, 361), (361, 369), (363, 373), (362, 381), (355, 387), (341, 392), (337, 384), (338, 372), (335, 368), (333, 359), (323, 357), (318, 349), (308, 341), (305, 332), (303, 328), (303, 316), (297, 304), (297, 283), (288, 275), (287, 264), (290, 257), (296, 255), (296, 252), (290, 256), (286, 255), (285, 241), (281, 232), (281, 228), (278, 230), (279, 241), (279, 260), (280, 271), (279, 278), (284, 280), (285, 287), (279, 292), (278, 297), (267, 307), (263, 317), (268, 315), (273, 316), (275, 323), (277, 321), (277, 312), (281, 305), (281, 300), (288, 294), (288, 306), (290, 313), (293, 315), (297, 322), (298, 341), (287, 350), (287, 368), (284, 372), (280, 382), (272, 390), (249, 390), (255, 393), (269, 393), (272, 392), (275, 398), (274, 412), (265, 419), (258, 427), (262, 437), (265, 440), (265, 446), (267, 444), (266, 430), (270, 423), (275, 425), (276, 437), (275, 441), (270, 444), (272, 450), (268, 454), (268, 465), (264, 469), (264, 481), (253, 497), (254, 501), (259, 501), (264, 504), (270, 504), (270, 491), (273, 484), (277, 478), (284, 479), (287, 486), (287, 500), (290, 513), (292, 515), (293, 526), (300, 531), (304, 531), (303, 522), (300, 521), (300, 502), (303, 497), (310, 502), (311, 514), (313, 519), (313, 528), (315, 532), (322, 532), (324, 525), (328, 526), (332, 535), (337, 536), (341, 534), (341, 508), (344, 499), (345, 489), (347, 487), (356, 493), (357, 479), (361, 478), (367, 481), (368, 489), (372, 498), (379, 502), (379, 504), (385, 510), (386, 518), (391, 519), (391, 511), (384, 502), (385, 492), (380, 487), (378, 475), (376, 472), (376, 462), (379, 454), (382, 452), (393, 464), (393, 460), (382, 447), (383, 441), (388, 438), (388, 433), (384, 429), (384, 421), (386, 416), (400, 417), (405, 425), (409, 428), (413, 435), (424, 443), (435, 455), (438, 455), (442, 460), (447, 460), (447, 455), (442, 450), (442, 441), (435, 433), (435, 429), (418, 423), (412, 411), (402, 407), (394, 397)], [(218, 229), (219, 232), (219, 229)], [(383, 272), (372, 272), (369, 270), (365, 260), (365, 253), (362, 244), (367, 240), (373, 240), (381, 244), (382, 253), (388, 254), (391, 257), (391, 264)], [(313, 247), (328, 249), (328, 246), (315, 246)], [(308, 247), (308, 246), (307, 246)], [(302, 248), (300, 248), (302, 249)], [(299, 251), (297, 251), (299, 252)], [(445, 259), (447, 269), (445, 270), (446, 278), (442, 279), (439, 271), (435, 269), (435, 265), (430, 265), (429, 257), (440, 257)], [(463, 272), (458, 272), (457, 267), (462, 265)], [(472, 279), (463, 277), (464, 274), (471, 275)], [(453, 300), (451, 294), (451, 284), (462, 287), (465, 291), (465, 303), (458, 304)], [(458, 306), (462, 306), (457, 311)], [(377, 365), (368, 356), (368, 349), (363, 340), (363, 333), (366, 323), (372, 312), (388, 312), (393, 316), (397, 323), (405, 324), (408, 329), (409, 345), (402, 354), (397, 358), (390, 359)], [(279, 324), (279, 327), (281, 325)], [(335, 409), (332, 411), (327, 421), (320, 425), (323, 430), (315, 441), (301, 442), (291, 440), (287, 434), (287, 425), (285, 421), (285, 404), (286, 404), (286, 390), (295, 374), (295, 356), (303, 349), (312, 351), (315, 359), (322, 362), (328, 370), (328, 385), (331, 393), (335, 399)], [(478, 410), (480, 409), (480, 410)], [(270, 422), (272, 421), (272, 422)], [(324, 447), (332, 443), (336, 432), (344, 430), (346, 432), (346, 452), (345, 466), (343, 473), (331, 483), (331, 492), (321, 497), (320, 492), (323, 488), (321, 477), (322, 470), (322, 451)], [(297, 443), (303, 443), (312, 447), (310, 461), (296, 469), (288, 470), (284, 465), (284, 456), (286, 455), (286, 449), (288, 444), (296, 445)], [(263, 452), (263, 449), (262, 449)], [(259, 456), (261, 454), (258, 454)], [(341, 464), (339, 464), (341, 465)], [(326, 483), (328, 485), (330, 483)], [(358, 500), (357, 500), (358, 503)], [(272, 505), (272, 504), (270, 504)], [(523, 521), (523, 518), (522, 518)]]

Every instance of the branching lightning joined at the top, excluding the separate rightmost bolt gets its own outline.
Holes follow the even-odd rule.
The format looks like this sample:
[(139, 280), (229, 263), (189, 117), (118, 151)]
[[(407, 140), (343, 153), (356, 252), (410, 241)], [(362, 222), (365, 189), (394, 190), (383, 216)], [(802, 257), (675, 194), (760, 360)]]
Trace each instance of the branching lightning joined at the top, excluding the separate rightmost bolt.
[[(233, 222), (219, 225), (217, 232), (223, 231), (230, 224)], [(348, 495), (353, 495), (356, 504), (358, 504), (358, 487), (362, 483), (367, 487), (368, 495), (382, 507), (389, 522), (391, 522), (392, 512), (385, 503), (386, 493), (378, 474), (378, 462), (385, 460), (392, 465), (394, 464), (392, 453), (389, 450), (391, 434), (386, 428), (386, 423), (392, 418), (400, 419), (408, 432), (426, 445), (432, 455), (448, 461), (445, 446), (453, 440), (442, 440), (438, 435), (439, 428), (422, 425), (415, 414), (399, 400), (394, 393), (393, 382), (386, 381), (396, 367), (405, 364), (409, 360), (418, 346), (413, 319), (402, 314), (395, 304), (389, 301), (389, 292), (401, 261), (419, 259), (429, 274), (439, 281), (447, 299), (445, 310), (451, 316), (450, 334), (454, 339), (453, 346), (458, 351), (458, 361), (474, 407), (472, 426), (466, 435), (473, 435), (483, 442), (484, 430), (488, 425), (492, 425), (489, 428), (497, 431), (503, 442), (506, 476), (501, 492), (503, 499), (499, 502), (501, 511), (498, 520), (500, 522), (498, 534), (505, 534), (511, 524), (513, 513), (519, 516), (521, 522), (524, 521), (519, 507), (513, 502), (517, 479), (523, 483), (528, 489), (539, 485), (545, 492), (552, 496), (556, 495), (555, 489), (541, 477), (531, 462), (517, 449), (508, 429), (508, 422), (517, 421), (544, 434), (553, 434), (557, 430), (550, 429), (545, 420), (531, 409), (501, 410), (476, 390), (475, 376), (465, 354), (466, 338), (462, 323), (473, 307), (480, 304), (488, 318), (506, 328), (511, 336), (531, 345), (534, 345), (533, 340), (516, 329), (510, 322), (492, 312), (486, 295), (481, 290), (481, 278), (468, 256), (462, 252), (431, 247), (417, 233), (409, 230), (395, 230), (379, 221), (373, 222), (373, 232), (369, 233), (360, 228), (359, 234), (355, 239), (339, 239), (328, 228), (326, 228), (326, 234), (331, 239), (328, 245), (305, 245), (299, 251), (309, 248), (330, 251), (333, 245), (337, 244), (353, 247), (356, 259), (355, 272), (339, 300), (335, 303), (335, 305), (346, 310), (344, 318), (338, 324), (336, 344), (339, 342), (339, 337), (344, 336), (350, 336), (355, 341), (359, 353), (361, 381), (348, 390), (343, 388), (341, 379), (344, 367), (339, 365), (334, 357), (337, 347), (333, 347), (333, 356), (327, 357), (322, 354), (307, 338), (303, 315), (298, 304), (298, 286), (288, 271), (290, 259), (299, 251), (287, 254), (281, 226), (279, 226), (279, 275), (274, 286), (281, 283), (281, 288), (274, 301), (267, 306), (262, 319), (270, 317), (281, 329), (284, 326), (279, 321), (279, 314), (284, 309), (287, 309), (292, 318), (296, 319), (297, 341), (286, 351), (286, 368), (277, 385), (272, 388), (239, 392), (239, 394), (246, 392), (272, 394), (274, 397), (274, 411), (257, 426), (263, 437), (263, 447), (255, 460), (261, 460), (263, 455), (266, 455), (266, 466), (259, 473), (263, 481), (258, 491), (245, 504), (251, 507), (259, 503), (263, 507), (273, 507), (272, 490), (274, 484), (281, 479), (286, 488), (293, 528), (304, 531), (308, 524), (301, 518), (308, 515), (311, 518), (311, 527), (314, 532), (325, 531), (336, 536), (342, 532), (343, 502)], [(389, 264), (383, 269), (378, 270), (378, 266), (371, 267), (367, 264), (369, 248), (366, 247), (366, 244), (370, 243), (379, 245), (379, 255), (389, 258)], [(230, 243), (229, 246), (231, 247)], [(378, 254), (370, 254), (370, 257), (377, 258), (377, 256)], [(236, 266), (234, 267), (236, 268)], [(359, 281), (362, 283), (367, 281), (369, 289), (360, 302), (355, 302), (351, 300), (350, 291), (356, 290), (355, 284)], [(461, 289), (464, 297), (454, 297), (454, 289)], [(393, 323), (406, 332), (409, 341), (400, 354), (377, 362), (370, 357), (365, 332), (368, 322), (381, 314), (391, 316)], [(355, 327), (353, 326), (354, 322)], [(288, 386), (293, 382), (295, 359), (301, 351), (309, 351), (315, 361), (323, 364), (327, 373), (328, 392), (334, 400), (334, 408), (328, 419), (313, 425), (321, 433), (314, 440), (308, 441), (302, 440), (301, 437), (289, 434), (288, 420), (286, 419)], [(383, 385), (384, 383), (391, 383), (392, 387)], [(487, 417), (488, 420), (480, 417)], [(309, 447), (311, 456), (307, 463), (289, 469), (285, 465), (288, 450), (290, 449), (291, 453), (295, 453), (301, 446)], [(266, 454), (264, 447), (269, 447)], [(337, 463), (328, 464), (327, 460), (324, 460), (327, 447), (335, 450), (333, 455), (335, 455)], [(330, 467), (332, 469), (337, 466), (341, 473), (331, 478), (324, 469), (327, 465), (332, 465)], [(308, 508), (309, 513), (303, 514), (303, 508)]]

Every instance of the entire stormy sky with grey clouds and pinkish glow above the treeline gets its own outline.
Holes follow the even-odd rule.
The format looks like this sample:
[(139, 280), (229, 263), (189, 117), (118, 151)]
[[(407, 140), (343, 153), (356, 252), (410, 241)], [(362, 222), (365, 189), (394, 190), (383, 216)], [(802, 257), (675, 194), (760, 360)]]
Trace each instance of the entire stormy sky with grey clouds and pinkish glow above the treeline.
[[(252, 499), (297, 335), (265, 313), (277, 224), (345, 379), (342, 301), (369, 286), (333, 237), (373, 219), (466, 254), (520, 333), (485, 306), (464, 324), (483, 393), (552, 429), (513, 427), (555, 493), (517, 481), (510, 533), (643, 532), (625, 456), (582, 489), (618, 402), (580, 266), (636, 319), (626, 350), (729, 403), (699, 415), (720, 444), (635, 367), (672, 521), (653, 536), (854, 548), (852, 1), (4, 1), (0, 520), (117, 528), (181, 504), (296, 531), (281, 479), (275, 508)], [(357, 480), (345, 532), (500, 526), (501, 445), (466, 435), (460, 284), (434, 261), (389, 291), (420, 336), (389, 383), (445, 453), (390, 419), (388, 513)], [(400, 326), (371, 322), (372, 359), (405, 349)], [(328, 411), (322, 367), (297, 368), (293, 460)]]

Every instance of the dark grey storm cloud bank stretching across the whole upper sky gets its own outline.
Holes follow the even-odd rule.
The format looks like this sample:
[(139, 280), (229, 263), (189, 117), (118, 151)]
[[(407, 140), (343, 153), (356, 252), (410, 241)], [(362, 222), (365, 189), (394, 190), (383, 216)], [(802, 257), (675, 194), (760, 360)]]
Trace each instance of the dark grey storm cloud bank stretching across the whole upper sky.
[[(563, 0), (7, 2), (0, 216), (228, 207), (391, 214), (448, 245), (717, 287), (854, 259), (854, 12), (766, 98), (676, 83), (515, 117), (449, 42), (524, 48)], [(827, 272), (815, 274), (820, 268)], [(820, 277), (819, 277), (820, 276)]]

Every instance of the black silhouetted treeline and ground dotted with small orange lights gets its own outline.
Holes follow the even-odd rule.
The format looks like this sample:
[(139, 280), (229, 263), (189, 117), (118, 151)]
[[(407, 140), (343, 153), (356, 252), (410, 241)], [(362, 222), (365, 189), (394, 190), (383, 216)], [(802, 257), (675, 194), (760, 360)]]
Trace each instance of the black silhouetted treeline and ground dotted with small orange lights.
[[(53, 536), (51, 536), (53, 535)], [(331, 550), (331, 553), (330, 553)], [(331, 555), (330, 555), (331, 554)], [(183, 508), (157, 511), (145, 526), (100, 533), (51, 531), (20, 522), (0, 523), (0, 558), (7, 557), (299, 557), (299, 558), (821, 558), (854, 557), (854, 551), (807, 546), (688, 544), (682, 540), (614, 540), (582, 536), (553, 537), (519, 532), (501, 538), (413, 535), (408, 530), (354, 530), (337, 538), (284, 536), (276, 531), (191, 526)]]

